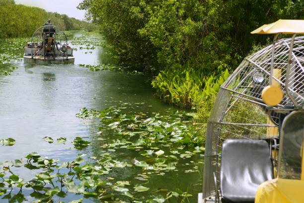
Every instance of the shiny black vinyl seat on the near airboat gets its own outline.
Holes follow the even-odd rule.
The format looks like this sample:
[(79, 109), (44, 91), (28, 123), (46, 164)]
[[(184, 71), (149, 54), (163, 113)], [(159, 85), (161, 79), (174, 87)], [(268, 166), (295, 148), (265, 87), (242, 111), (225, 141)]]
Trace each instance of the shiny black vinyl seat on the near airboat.
[(273, 179), (273, 164), (265, 140), (228, 139), (223, 143), (221, 194), (223, 203), (254, 203), (258, 186)]

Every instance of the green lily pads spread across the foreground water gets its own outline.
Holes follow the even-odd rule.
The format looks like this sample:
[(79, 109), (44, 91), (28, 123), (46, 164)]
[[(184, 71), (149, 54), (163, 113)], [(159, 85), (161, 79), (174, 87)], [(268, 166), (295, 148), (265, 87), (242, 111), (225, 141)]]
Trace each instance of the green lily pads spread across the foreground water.
[[(99, 131), (93, 140), (105, 140), (104, 133), (114, 132), (113, 139), (104, 141), (100, 147), (102, 153), (98, 157), (80, 153), (73, 161), (60, 162), (32, 152), (23, 159), (0, 163), (0, 198), (10, 202), (27, 201), (24, 189), (31, 191), (30, 196), (37, 203), (51, 203), (55, 196), (56, 199), (64, 199), (69, 194), (79, 196), (71, 203), (85, 202), (86, 198), (111, 203), (164, 203), (169, 199), (182, 202), (191, 196), (178, 188), (175, 191), (151, 188), (149, 180), (153, 176), (177, 171), (180, 160), (204, 152), (197, 130), (189, 125), (192, 113), (177, 111), (173, 115), (153, 113), (148, 116), (144, 113), (126, 114), (120, 108), (111, 107), (102, 111), (82, 108), (76, 116), (99, 119)], [(55, 144), (55, 138), (43, 139)], [(60, 137), (56, 143), (66, 141), (67, 138)], [(14, 143), (14, 140), (9, 138), (2, 142), (6, 145)], [(94, 142), (81, 137), (71, 142), (76, 150), (94, 147)], [(116, 157), (116, 150), (138, 153), (136, 157), (122, 160)], [(13, 170), (19, 167), (37, 172), (32, 179), (24, 180)], [(115, 177), (116, 172), (124, 168), (140, 170), (141, 173), (131, 180)], [(192, 167), (192, 171), (184, 173), (197, 171), (197, 167)]]

